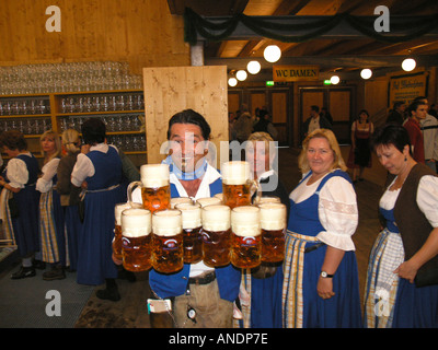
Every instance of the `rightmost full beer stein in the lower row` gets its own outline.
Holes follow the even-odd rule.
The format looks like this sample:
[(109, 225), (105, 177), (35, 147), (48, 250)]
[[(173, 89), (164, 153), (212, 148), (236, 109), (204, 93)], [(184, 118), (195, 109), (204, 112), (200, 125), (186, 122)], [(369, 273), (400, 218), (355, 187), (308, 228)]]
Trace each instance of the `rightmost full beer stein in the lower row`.
[(286, 206), (264, 203), (258, 208), (262, 228), (262, 261), (283, 261), (285, 258)]

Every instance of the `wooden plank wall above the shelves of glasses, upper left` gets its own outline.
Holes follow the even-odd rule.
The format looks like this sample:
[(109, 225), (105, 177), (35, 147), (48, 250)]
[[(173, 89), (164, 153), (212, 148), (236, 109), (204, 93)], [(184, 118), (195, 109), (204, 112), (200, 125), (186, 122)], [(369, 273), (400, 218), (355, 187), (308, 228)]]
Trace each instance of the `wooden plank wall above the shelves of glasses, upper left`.
[[(61, 32), (45, 28), (46, 8), (61, 10)], [(187, 66), (182, 16), (166, 1), (2, 0), (0, 66), (92, 60), (128, 61), (143, 67)]]

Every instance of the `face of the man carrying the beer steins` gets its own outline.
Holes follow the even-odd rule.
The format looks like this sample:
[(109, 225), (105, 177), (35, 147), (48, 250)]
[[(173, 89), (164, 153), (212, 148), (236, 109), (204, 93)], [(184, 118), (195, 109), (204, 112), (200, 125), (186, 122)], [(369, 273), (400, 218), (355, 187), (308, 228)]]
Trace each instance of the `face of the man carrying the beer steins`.
[(197, 125), (174, 124), (170, 130), (172, 160), (184, 173), (194, 172), (201, 165), (204, 150), (208, 149)]

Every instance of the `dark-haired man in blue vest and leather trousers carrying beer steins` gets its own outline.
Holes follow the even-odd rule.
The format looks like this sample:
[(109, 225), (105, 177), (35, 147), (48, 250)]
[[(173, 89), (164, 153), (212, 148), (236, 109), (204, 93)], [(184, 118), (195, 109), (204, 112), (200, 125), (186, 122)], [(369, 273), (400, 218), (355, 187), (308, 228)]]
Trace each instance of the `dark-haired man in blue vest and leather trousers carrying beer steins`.
[[(163, 161), (170, 168), (171, 197), (193, 200), (222, 192), (219, 172), (209, 164), (215, 156), (209, 148), (210, 126), (193, 109), (176, 113), (169, 120), (166, 149)], [(132, 201), (141, 202), (139, 190)], [(239, 294), (240, 270), (230, 264), (209, 267), (203, 261), (184, 264), (175, 273), (160, 273), (152, 269), (149, 283), (152, 299), (173, 299), (170, 312), (176, 328), (231, 328), (233, 302)], [(169, 304), (168, 304), (169, 305)], [(153, 325), (153, 317), (151, 317)]]

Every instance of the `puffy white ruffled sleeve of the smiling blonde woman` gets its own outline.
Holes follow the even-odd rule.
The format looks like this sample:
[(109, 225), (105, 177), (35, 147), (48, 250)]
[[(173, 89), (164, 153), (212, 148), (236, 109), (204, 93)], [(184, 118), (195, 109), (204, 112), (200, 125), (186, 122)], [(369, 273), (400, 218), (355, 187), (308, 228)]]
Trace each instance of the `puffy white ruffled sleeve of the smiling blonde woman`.
[(341, 176), (326, 182), (320, 191), (320, 221), (325, 231), (316, 237), (342, 250), (355, 250), (351, 240), (356, 232), (359, 214), (353, 185)]

